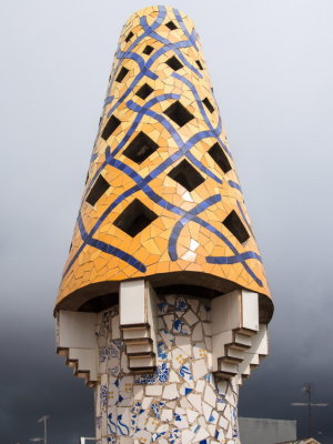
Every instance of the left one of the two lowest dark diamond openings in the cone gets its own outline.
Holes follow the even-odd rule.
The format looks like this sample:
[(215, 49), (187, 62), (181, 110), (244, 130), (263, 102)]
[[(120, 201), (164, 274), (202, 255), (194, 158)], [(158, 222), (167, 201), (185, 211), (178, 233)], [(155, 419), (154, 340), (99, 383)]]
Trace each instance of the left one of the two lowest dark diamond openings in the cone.
[(139, 199), (134, 199), (124, 211), (115, 219), (113, 224), (134, 238), (148, 225), (150, 225), (158, 215), (145, 206)]

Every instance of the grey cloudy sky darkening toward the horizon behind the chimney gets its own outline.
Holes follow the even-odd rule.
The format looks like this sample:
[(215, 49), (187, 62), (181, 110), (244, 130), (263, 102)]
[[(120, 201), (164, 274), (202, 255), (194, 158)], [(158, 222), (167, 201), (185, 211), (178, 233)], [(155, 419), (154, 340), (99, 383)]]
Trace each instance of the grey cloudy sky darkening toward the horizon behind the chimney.
[[(163, 2), (161, 2), (163, 3)], [(92, 393), (54, 354), (52, 306), (121, 28), (139, 0), (0, 0), (0, 441), (93, 434)], [(333, 442), (332, 0), (174, 0), (200, 33), (272, 293), (271, 356), (240, 413)]]

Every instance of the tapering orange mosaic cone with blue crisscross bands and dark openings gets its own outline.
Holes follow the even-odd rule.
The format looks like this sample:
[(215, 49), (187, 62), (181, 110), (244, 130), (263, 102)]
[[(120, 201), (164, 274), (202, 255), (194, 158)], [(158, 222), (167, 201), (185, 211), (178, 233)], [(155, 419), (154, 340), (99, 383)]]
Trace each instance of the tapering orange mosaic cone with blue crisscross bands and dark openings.
[(272, 314), (198, 33), (165, 7), (123, 28), (57, 309), (138, 278), (208, 297), (251, 290)]

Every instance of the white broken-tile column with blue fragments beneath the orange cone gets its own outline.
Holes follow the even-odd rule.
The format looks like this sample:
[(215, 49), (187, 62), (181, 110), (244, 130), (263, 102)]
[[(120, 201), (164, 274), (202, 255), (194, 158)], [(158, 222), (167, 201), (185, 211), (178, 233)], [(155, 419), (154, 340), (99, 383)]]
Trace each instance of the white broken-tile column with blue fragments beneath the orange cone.
[(238, 385), (233, 379), (215, 382), (211, 374), (210, 301), (168, 295), (158, 309), (153, 374), (129, 371), (118, 307), (99, 315), (100, 444), (239, 444)]

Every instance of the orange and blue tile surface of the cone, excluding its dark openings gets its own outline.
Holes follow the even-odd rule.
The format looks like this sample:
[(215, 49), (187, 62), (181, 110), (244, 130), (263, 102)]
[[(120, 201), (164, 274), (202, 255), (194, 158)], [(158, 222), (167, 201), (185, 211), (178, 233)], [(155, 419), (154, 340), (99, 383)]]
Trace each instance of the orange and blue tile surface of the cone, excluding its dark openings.
[[(176, 30), (168, 33), (165, 23), (170, 18)], [(159, 7), (153, 16), (137, 17), (135, 20), (135, 29), (140, 30), (133, 32), (129, 42), (125, 42), (127, 36), (123, 34), (115, 53), (100, 131), (90, 161), (89, 179), (63, 271), (60, 297), (97, 281), (119, 281), (160, 272), (158, 266), (161, 262), (169, 263), (168, 271), (201, 271), (269, 294), (262, 260), (246, 215), (242, 189), (233, 168), (206, 69), (200, 69), (200, 64), (195, 63), (195, 60), (201, 60), (201, 65), (204, 63), (198, 34), (194, 28), (189, 29), (189, 21), (176, 9)], [(130, 26), (125, 30), (128, 34)], [(144, 56), (143, 49), (148, 43), (154, 50)], [(173, 56), (182, 69), (172, 70), (165, 64)], [(129, 68), (129, 74), (119, 84), (115, 79), (123, 65)], [(144, 83), (155, 88), (152, 95), (142, 100), (135, 92)], [(214, 103), (213, 114), (203, 104), (204, 95), (208, 94)], [(193, 115), (193, 121), (181, 128), (163, 112), (176, 101), (186, 102), (186, 109)], [(108, 140), (103, 140), (102, 130), (112, 115), (121, 121), (121, 125)], [(153, 161), (148, 158), (142, 164), (137, 164), (123, 152), (147, 127), (155, 130), (150, 134), (154, 142), (159, 144), (157, 132), (163, 134), (170, 149), (164, 145), (163, 153), (167, 148), (168, 155), (157, 157), (154, 153), (151, 157)], [(226, 173), (208, 153), (209, 147), (216, 142), (232, 165)], [(164, 192), (168, 186), (171, 188), (172, 180), (168, 174), (183, 160), (204, 179), (204, 184), (200, 185), (205, 189), (204, 192), (199, 193), (200, 186), (193, 193), (186, 192), (178, 183), (172, 185), (173, 193)], [(110, 190), (91, 208), (85, 199), (100, 175), (110, 183)], [(113, 180), (120, 184), (115, 186)], [(162, 183), (162, 188), (157, 189), (155, 183)], [(159, 224), (158, 219), (142, 231), (148, 231), (150, 236), (140, 233), (139, 241), (130, 239), (129, 234), (114, 226), (115, 218), (134, 199), (143, 201), (155, 212), (158, 219), (168, 219), (164, 233), (161, 229), (163, 224)], [(223, 226), (223, 218), (232, 210), (238, 213), (249, 233), (249, 240), (244, 244)], [(165, 251), (163, 246), (159, 246), (159, 251), (150, 250), (143, 254), (147, 242), (155, 242), (155, 236), (159, 235), (158, 224), (161, 235), (159, 245), (162, 245), (163, 239)], [(193, 225), (196, 229), (191, 229)], [(195, 240), (196, 249), (191, 255), (183, 251), (186, 243), (183, 238), (188, 239), (189, 232), (192, 233), (191, 239)], [(154, 256), (153, 261), (151, 256)], [(196, 262), (199, 256), (200, 263)], [(102, 261), (101, 269), (104, 272), (94, 264), (94, 258)], [(231, 275), (230, 270), (235, 265), (238, 272)]]

